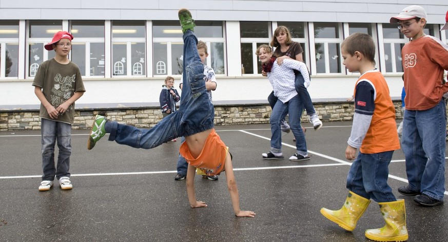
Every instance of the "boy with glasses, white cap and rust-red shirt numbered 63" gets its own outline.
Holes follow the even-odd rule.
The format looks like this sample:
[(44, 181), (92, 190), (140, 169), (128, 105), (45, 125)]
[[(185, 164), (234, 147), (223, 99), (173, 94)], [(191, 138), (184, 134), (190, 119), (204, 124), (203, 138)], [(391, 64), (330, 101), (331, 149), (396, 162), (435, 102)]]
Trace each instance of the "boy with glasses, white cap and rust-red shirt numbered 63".
[(445, 192), (445, 102), (448, 91), (443, 82), (448, 69), (448, 45), (426, 35), (425, 10), (416, 5), (404, 8), (389, 21), (398, 24), (411, 41), (401, 49), (404, 69), (406, 111), (403, 118), (401, 148), (409, 184), (398, 189), (416, 196), (421, 206), (443, 204)]

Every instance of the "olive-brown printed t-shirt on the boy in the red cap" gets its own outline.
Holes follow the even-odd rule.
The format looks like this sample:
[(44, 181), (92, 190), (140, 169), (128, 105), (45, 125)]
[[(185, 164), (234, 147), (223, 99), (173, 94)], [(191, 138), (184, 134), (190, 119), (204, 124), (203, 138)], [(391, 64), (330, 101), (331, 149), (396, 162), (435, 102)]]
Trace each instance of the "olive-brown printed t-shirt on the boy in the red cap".
[[(37, 70), (33, 86), (42, 88), (45, 98), (53, 107), (58, 107), (70, 99), (76, 91), (85, 91), (80, 68), (73, 62), (61, 64), (54, 58), (44, 61)], [(47, 109), (41, 103), (39, 117), (57, 122), (73, 124), (74, 103), (72, 103), (64, 114), (56, 119), (50, 118)]]

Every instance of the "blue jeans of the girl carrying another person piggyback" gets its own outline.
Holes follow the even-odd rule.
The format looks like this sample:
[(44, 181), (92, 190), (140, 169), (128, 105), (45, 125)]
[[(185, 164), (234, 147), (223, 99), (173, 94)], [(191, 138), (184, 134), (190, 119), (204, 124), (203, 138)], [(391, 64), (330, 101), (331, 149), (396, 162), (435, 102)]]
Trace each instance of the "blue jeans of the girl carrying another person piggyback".
[(272, 133), (270, 139), (270, 152), (280, 153), (282, 152), (282, 134), (280, 130), (280, 120), (285, 114), (289, 113), (289, 126), (291, 131), (296, 138), (296, 153), (307, 156), (308, 151), (306, 150), (305, 135), (302, 131), (302, 126), (300, 125), (300, 117), (302, 117), (303, 105), (296, 95), (291, 98), (286, 103), (277, 100), (274, 109), (272, 109), (272, 114), (269, 119), (270, 131)]

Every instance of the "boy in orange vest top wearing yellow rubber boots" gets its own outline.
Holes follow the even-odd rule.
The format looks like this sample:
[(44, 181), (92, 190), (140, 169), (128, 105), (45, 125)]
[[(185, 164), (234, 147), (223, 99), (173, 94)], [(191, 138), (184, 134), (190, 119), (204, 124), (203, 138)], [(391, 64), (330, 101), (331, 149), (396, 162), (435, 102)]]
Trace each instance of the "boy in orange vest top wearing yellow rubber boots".
[(353, 95), (352, 134), (345, 150), (345, 158), (353, 163), (347, 176), (349, 193), (344, 206), (337, 211), (322, 208), (320, 212), (345, 230), (353, 231), (372, 198), (378, 202), (386, 225), (366, 230), (365, 236), (377, 241), (407, 240), (404, 200), (397, 200), (387, 184), (388, 165), (400, 143), (389, 88), (375, 68), (375, 43), (368, 34), (354, 33), (342, 42), (341, 53), (348, 71), (361, 73)]

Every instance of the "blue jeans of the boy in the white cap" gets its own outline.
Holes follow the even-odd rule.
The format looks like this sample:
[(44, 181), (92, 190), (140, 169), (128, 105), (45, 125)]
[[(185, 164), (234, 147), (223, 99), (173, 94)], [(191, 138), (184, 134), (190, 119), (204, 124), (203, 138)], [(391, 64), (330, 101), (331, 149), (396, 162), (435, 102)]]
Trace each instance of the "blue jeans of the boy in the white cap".
[(445, 192), (445, 102), (422, 111), (406, 108), (401, 148), (409, 187), (443, 201)]

